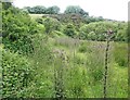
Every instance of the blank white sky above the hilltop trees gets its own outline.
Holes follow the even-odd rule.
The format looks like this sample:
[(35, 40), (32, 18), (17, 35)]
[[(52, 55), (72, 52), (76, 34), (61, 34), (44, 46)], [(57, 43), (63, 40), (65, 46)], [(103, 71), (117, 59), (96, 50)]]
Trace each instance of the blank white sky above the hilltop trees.
[(18, 8), (35, 5), (57, 5), (64, 12), (67, 5), (79, 5), (89, 15), (103, 16), (104, 18), (128, 21), (129, 0), (14, 0)]

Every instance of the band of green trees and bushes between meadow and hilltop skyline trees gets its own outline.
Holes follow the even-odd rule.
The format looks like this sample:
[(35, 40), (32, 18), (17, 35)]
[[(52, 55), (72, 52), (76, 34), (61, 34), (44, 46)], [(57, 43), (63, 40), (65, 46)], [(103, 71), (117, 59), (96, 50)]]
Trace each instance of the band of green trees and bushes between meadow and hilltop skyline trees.
[(58, 32), (68, 37), (79, 38), (81, 40), (105, 41), (107, 30), (112, 29), (114, 32), (114, 41), (127, 41), (127, 23), (102, 20), (92, 22), (89, 18), (82, 21), (77, 15), (75, 15), (75, 20), (72, 18), (74, 15), (67, 17), (64, 15), (64, 18), (62, 17), (64, 21), (58, 21), (58, 15), (57, 17), (42, 16), (36, 18), (36, 22), (44, 27), (46, 33), (50, 36), (56, 35)]

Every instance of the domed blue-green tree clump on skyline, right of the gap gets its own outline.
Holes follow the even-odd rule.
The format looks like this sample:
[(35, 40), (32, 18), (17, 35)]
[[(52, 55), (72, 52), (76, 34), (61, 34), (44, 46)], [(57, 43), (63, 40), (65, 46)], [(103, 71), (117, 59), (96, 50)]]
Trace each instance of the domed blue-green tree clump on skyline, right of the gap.
[(69, 5), (66, 8), (64, 13), (65, 14), (75, 13), (75, 14), (80, 14), (80, 15), (89, 15), (89, 13), (83, 11), (79, 5)]

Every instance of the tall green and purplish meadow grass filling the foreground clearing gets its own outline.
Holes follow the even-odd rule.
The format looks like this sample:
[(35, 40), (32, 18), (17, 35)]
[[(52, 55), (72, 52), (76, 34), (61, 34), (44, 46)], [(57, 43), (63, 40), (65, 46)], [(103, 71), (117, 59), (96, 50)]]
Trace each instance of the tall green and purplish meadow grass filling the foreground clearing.
[[(127, 67), (119, 67), (114, 60), (114, 45), (110, 42), (109, 47), (106, 93), (127, 97)], [(72, 38), (50, 41), (38, 36), (34, 46), (35, 53), (29, 57), (35, 70), (34, 80), (27, 88), (29, 97), (103, 98), (105, 42)]]

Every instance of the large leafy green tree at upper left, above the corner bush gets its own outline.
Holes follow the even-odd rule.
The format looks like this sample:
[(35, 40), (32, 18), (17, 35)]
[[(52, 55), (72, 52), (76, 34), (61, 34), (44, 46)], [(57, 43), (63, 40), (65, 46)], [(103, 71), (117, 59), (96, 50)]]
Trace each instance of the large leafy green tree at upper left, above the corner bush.
[(27, 13), (14, 7), (2, 9), (2, 21), (4, 48), (14, 52), (30, 52), (31, 36), (38, 32), (36, 22), (31, 21)]

